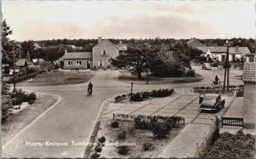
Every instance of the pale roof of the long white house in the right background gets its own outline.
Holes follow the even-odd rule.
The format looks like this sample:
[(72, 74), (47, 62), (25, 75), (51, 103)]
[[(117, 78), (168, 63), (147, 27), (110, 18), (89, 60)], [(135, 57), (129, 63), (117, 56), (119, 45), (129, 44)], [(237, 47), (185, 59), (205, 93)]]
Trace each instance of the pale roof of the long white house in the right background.
[[(203, 53), (207, 53), (207, 49), (209, 48), (211, 53), (215, 54), (223, 54), (227, 52), (226, 47), (196, 47), (203, 51)], [(251, 54), (250, 50), (247, 47), (230, 47), (230, 54)]]

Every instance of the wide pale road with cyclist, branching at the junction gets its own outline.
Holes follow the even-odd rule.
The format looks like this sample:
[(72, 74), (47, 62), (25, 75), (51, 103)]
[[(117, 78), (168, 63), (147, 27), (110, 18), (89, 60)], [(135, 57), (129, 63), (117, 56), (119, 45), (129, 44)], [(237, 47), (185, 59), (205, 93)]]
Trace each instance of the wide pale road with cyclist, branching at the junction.
[[(177, 92), (185, 90), (189, 94), (189, 88), (207, 85), (216, 74), (219, 77), (222, 74), (221, 71), (201, 71), (200, 68), (195, 70), (205, 79), (182, 84), (137, 85), (134, 90), (164, 87), (176, 88)], [(64, 86), (22, 87), (24, 90), (58, 95), (61, 101), (3, 145), (2, 157), (82, 157), (85, 146), (75, 144), (89, 141), (103, 101), (117, 94), (127, 94), (131, 90), (130, 84), (118, 81), (118, 76), (119, 71), (96, 72), (96, 76), (90, 80), (94, 84), (93, 95), (90, 97), (87, 96), (87, 82)], [(232, 78), (230, 82), (241, 84), (239, 80)], [(57, 144), (60, 146), (56, 146)]]

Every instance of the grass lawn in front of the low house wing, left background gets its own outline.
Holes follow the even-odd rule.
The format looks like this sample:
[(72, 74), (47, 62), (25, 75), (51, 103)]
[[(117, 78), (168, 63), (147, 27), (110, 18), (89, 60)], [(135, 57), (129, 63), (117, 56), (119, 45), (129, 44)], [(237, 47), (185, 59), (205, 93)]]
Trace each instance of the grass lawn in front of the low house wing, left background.
[(66, 85), (88, 82), (93, 73), (80, 71), (47, 71), (32, 78), (19, 82), (19, 86), (47, 86), (47, 85)]

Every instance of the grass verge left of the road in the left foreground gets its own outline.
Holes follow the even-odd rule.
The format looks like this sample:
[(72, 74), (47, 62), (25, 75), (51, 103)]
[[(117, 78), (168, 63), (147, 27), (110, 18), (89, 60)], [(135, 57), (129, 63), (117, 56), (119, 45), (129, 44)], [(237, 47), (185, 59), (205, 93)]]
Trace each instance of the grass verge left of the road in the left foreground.
[(38, 99), (35, 103), (27, 106), (17, 114), (9, 116), (7, 121), (2, 123), (2, 145), (57, 101), (57, 98), (52, 95), (37, 94), (37, 97)]

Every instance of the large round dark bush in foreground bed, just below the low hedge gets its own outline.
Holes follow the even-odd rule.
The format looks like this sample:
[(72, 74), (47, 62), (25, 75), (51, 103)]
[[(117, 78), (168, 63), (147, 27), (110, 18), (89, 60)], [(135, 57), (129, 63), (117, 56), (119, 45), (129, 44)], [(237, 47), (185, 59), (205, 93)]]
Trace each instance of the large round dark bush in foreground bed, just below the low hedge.
[(168, 128), (166, 128), (166, 125), (161, 122), (152, 123), (151, 132), (158, 139), (166, 138), (167, 133), (169, 133)]

